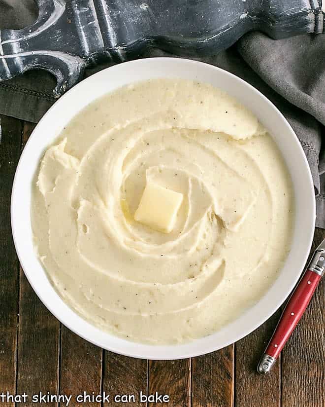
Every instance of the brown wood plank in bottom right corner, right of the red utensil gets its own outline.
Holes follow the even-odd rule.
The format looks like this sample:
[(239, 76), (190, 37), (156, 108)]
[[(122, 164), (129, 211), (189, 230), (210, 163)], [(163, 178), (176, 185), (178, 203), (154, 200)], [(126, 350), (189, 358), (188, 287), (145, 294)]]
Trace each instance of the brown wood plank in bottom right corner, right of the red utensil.
[[(325, 230), (315, 230), (314, 249), (324, 237)], [(322, 280), (282, 351), (282, 407), (325, 406), (325, 281)]]

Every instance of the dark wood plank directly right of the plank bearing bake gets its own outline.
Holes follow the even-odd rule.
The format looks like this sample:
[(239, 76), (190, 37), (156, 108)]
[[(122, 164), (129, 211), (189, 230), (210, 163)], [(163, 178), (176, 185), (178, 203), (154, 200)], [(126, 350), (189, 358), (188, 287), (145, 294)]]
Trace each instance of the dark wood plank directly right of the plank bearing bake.
[(233, 406), (234, 345), (193, 358), (192, 406)]

